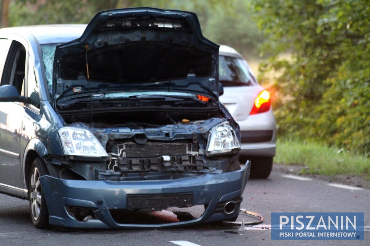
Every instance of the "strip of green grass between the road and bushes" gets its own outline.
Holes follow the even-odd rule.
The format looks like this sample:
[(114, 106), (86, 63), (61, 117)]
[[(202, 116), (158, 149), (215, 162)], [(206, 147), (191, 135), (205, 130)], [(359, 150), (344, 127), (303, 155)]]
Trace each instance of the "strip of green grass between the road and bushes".
[(274, 162), (303, 166), (302, 174), (354, 174), (370, 179), (370, 158), (314, 141), (278, 139)]

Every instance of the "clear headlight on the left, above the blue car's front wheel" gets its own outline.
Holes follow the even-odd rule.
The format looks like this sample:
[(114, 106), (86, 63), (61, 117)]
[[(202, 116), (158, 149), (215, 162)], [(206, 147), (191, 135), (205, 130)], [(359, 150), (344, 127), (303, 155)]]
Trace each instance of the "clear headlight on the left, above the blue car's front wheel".
[(64, 155), (103, 157), (108, 156), (92, 132), (75, 127), (62, 127), (58, 131)]

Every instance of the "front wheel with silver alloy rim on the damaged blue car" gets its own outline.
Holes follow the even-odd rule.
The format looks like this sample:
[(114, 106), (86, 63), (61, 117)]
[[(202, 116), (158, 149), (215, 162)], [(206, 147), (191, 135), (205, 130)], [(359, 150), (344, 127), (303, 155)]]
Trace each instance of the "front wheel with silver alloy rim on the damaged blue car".
[(49, 212), (47, 209), (44, 193), (38, 178), (48, 174), (46, 166), (40, 158), (36, 158), (31, 166), (28, 179), (28, 200), (33, 224), (38, 229), (50, 228)]

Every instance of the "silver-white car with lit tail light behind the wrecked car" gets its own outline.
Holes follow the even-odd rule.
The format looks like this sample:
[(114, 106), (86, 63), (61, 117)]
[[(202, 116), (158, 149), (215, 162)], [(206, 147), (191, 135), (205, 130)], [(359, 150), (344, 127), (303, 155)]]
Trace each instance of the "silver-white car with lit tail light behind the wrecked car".
[(250, 177), (266, 179), (276, 149), (276, 121), (270, 94), (258, 84), (246, 60), (226, 45), (219, 49), (219, 79), (224, 90), (220, 101), (240, 126), (240, 163), (250, 160)]

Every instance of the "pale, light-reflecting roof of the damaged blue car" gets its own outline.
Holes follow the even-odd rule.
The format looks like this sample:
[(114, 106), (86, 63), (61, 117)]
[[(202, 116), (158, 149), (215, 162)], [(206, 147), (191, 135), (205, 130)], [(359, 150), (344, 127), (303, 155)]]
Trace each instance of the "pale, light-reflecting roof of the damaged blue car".
[(39, 44), (55, 44), (69, 42), (81, 37), (86, 26), (86, 24), (33, 25), (3, 28), (0, 31), (21, 36), (26, 32), (33, 35)]

